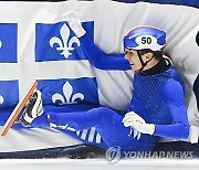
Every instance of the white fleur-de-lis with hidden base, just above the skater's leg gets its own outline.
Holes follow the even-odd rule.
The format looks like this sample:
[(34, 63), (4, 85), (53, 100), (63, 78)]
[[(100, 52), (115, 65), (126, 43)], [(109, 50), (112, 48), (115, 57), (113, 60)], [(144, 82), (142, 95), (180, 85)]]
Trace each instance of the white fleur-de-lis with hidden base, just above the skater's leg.
[(52, 102), (55, 104), (56, 100), (61, 100), (60, 105), (64, 105), (64, 104), (76, 104), (77, 103), (76, 99), (78, 99), (78, 98), (81, 100), (84, 99), (84, 95), (82, 93), (76, 93), (73, 96), (72, 96), (72, 93), (73, 93), (73, 87), (69, 82), (66, 82), (63, 85), (64, 96), (56, 93), (52, 96)]

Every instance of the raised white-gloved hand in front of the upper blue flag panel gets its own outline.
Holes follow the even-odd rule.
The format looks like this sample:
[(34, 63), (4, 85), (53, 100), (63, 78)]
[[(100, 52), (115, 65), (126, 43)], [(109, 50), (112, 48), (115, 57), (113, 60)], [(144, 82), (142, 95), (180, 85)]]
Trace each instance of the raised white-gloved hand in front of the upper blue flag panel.
[(63, 15), (65, 20), (67, 20), (70, 28), (73, 30), (73, 32), (75, 33), (77, 38), (81, 38), (86, 33), (86, 31), (82, 26), (81, 20), (78, 15), (76, 14), (76, 12), (69, 11), (64, 13)]

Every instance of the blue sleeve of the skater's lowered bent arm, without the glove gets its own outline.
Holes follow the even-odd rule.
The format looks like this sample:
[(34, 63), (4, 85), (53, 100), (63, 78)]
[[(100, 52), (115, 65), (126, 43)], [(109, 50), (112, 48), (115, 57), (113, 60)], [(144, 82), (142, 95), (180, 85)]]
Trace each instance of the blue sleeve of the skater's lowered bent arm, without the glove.
[(184, 100), (184, 89), (175, 81), (169, 82), (164, 89), (163, 95), (169, 105), (174, 123), (171, 125), (156, 125), (154, 135), (165, 138), (186, 139), (189, 136), (189, 123)]

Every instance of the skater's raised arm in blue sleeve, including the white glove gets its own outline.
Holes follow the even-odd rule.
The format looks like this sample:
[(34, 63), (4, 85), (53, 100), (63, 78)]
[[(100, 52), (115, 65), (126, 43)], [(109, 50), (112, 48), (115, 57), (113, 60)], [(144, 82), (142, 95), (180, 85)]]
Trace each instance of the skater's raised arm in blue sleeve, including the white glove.
[(130, 70), (130, 65), (124, 59), (124, 55), (108, 56), (91, 41), (82, 26), (78, 15), (74, 11), (67, 12), (65, 18), (67, 18), (70, 28), (80, 39), (85, 56), (95, 67), (101, 70)]

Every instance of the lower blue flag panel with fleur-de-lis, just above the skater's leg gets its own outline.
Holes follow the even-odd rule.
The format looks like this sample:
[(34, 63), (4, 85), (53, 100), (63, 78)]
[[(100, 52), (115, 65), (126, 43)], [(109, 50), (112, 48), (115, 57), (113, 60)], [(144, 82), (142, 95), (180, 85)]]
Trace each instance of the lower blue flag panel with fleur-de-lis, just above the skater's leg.
[(98, 104), (96, 78), (39, 81), (43, 104)]

